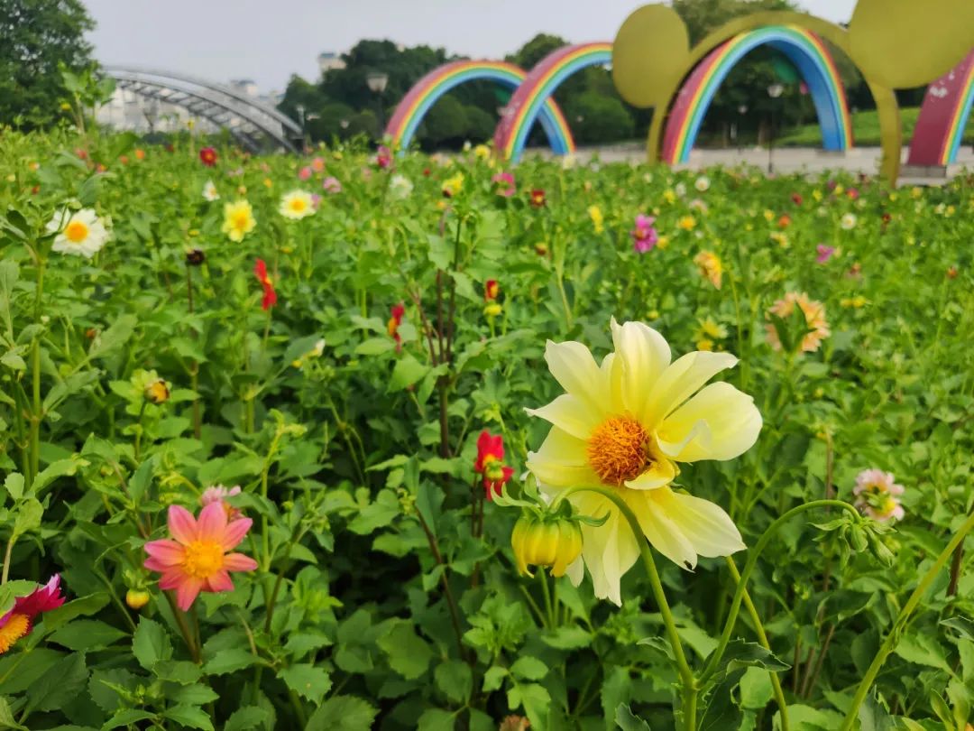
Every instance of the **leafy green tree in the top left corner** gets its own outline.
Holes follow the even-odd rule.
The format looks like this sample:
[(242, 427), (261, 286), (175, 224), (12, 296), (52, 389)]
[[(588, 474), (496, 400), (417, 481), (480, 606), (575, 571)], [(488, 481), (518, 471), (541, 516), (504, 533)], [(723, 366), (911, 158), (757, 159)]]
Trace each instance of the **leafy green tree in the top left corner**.
[(0, 0), (0, 123), (32, 129), (61, 116), (68, 95), (58, 64), (93, 66), (93, 29), (79, 0)]

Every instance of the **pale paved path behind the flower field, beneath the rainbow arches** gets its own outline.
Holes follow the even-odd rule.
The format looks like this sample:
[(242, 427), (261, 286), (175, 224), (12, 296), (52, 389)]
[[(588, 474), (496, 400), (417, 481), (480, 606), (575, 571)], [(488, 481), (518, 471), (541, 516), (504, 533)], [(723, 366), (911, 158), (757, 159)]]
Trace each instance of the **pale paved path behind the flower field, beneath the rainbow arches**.
[[(541, 152), (541, 150), (539, 150)], [(646, 159), (646, 148), (641, 144), (631, 143), (611, 145), (605, 147), (581, 147), (577, 152), (579, 161), (587, 160), (592, 155), (598, 155), (606, 162), (640, 162)], [(903, 160), (906, 162), (907, 150), (903, 150)], [(693, 150), (690, 163), (677, 166), (678, 169), (699, 170), (715, 165), (733, 166), (739, 163), (753, 165), (762, 170), (768, 170), (768, 150), (765, 148), (745, 148), (741, 152), (731, 150)], [(846, 170), (853, 173), (876, 174), (880, 169), (879, 147), (856, 147), (846, 153), (828, 153), (807, 147), (776, 148), (773, 154), (775, 173), (809, 173), (816, 174), (827, 170)], [(960, 148), (957, 164), (948, 170), (954, 176), (964, 169), (974, 172), (974, 151), (970, 145)], [(944, 178), (936, 177), (908, 177), (901, 176), (901, 185), (940, 184)]]

